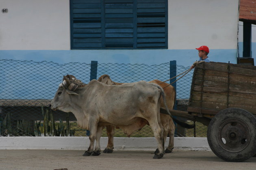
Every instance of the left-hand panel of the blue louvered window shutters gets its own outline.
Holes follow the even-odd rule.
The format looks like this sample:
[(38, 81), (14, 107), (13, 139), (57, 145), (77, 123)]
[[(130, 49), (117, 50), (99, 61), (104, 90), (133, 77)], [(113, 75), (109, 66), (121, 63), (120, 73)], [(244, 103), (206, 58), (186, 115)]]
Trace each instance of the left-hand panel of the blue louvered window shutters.
[(101, 0), (70, 0), (71, 49), (101, 49)]

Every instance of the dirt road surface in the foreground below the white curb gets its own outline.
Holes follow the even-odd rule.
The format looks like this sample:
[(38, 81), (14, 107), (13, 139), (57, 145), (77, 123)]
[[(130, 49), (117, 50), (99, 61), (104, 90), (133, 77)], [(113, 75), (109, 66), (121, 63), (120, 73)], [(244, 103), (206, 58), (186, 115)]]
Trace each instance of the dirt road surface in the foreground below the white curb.
[(225, 162), (211, 151), (177, 151), (152, 159), (153, 151), (114, 151), (83, 157), (81, 150), (0, 150), (0, 170), (255, 170), (256, 157)]

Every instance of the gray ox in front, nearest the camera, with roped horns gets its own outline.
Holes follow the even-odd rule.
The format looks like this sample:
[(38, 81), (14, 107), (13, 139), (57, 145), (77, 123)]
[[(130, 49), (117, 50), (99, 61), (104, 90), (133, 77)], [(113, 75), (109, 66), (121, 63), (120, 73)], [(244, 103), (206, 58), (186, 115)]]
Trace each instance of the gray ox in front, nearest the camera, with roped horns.
[[(77, 87), (74, 76), (67, 75), (63, 79), (50, 106), (52, 110), (72, 112), (78, 126), (90, 130), (90, 146), (83, 156), (100, 155), (103, 126), (118, 126), (124, 132), (130, 132), (130, 129), (137, 126), (136, 123), (145, 119), (158, 143), (153, 158), (163, 157), (160, 98), (162, 96), (165, 102), (165, 93), (162, 87), (146, 81), (117, 86), (105, 85), (97, 80), (90, 81), (84, 87)], [(166, 104), (165, 107), (168, 110)]]

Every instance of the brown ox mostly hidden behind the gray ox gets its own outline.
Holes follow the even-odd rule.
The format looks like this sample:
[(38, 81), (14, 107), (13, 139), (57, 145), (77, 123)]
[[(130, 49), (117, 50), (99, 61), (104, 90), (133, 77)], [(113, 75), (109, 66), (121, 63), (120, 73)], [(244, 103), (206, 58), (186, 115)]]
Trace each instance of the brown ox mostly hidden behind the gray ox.
[[(98, 81), (100, 81), (106, 85), (122, 85), (122, 84), (124, 84), (124, 83), (117, 83), (117, 82), (112, 81), (107, 74), (104, 74), (101, 77), (99, 77)], [(161, 87), (165, 87), (164, 92), (165, 92), (167, 107), (169, 109), (172, 109), (174, 106), (175, 95), (176, 95), (174, 87), (172, 85), (169, 85), (168, 83), (164, 83), (163, 81), (160, 81), (160, 80), (152, 80), (152, 81), (149, 81), (149, 83), (155, 83), (155, 84), (161, 83), (159, 85)], [(161, 107), (165, 107), (163, 98), (161, 98)], [(163, 129), (164, 129), (164, 133), (163, 133), (164, 141), (166, 140), (167, 135), (169, 133), (169, 144), (168, 144), (168, 147), (165, 149), (165, 153), (171, 153), (171, 151), (174, 149), (175, 125), (174, 125), (172, 118), (169, 115), (165, 115), (165, 114), (161, 113), (160, 118), (161, 118), (161, 123), (162, 123)], [(187, 125), (183, 122), (180, 122), (177, 119), (174, 119), (174, 120), (176, 121), (176, 123), (178, 123), (182, 127), (193, 128), (193, 126)], [(136, 124), (137, 124), (137, 126), (133, 129), (134, 131), (140, 130), (142, 127), (144, 127), (145, 125), (148, 124), (148, 121), (140, 120), (140, 122), (138, 122)], [(106, 132), (107, 132), (107, 136), (108, 136), (108, 144), (107, 144), (106, 149), (103, 152), (104, 153), (112, 153), (113, 148), (114, 148), (115, 126), (107, 125)], [(130, 134), (131, 133), (127, 134), (127, 136), (130, 137)]]

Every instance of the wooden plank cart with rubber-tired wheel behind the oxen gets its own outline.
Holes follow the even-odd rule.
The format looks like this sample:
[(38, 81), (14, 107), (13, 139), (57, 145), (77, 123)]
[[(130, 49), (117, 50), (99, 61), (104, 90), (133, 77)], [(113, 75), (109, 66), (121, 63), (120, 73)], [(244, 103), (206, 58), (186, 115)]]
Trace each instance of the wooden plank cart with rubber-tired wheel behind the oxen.
[(208, 144), (221, 159), (237, 162), (252, 157), (256, 154), (256, 66), (198, 63), (188, 112), (170, 111), (208, 125)]

